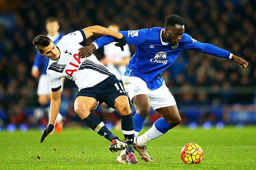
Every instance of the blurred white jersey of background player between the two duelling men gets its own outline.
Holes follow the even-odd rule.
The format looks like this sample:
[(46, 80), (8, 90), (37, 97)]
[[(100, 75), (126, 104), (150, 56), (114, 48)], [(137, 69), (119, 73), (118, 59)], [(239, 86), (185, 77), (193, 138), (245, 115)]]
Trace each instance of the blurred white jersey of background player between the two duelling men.
[[(112, 42), (104, 46), (104, 55), (106, 59), (121, 62), (123, 58), (131, 56), (128, 44), (123, 46), (124, 50), (122, 51), (119, 47), (115, 46), (115, 43), (116, 42)], [(112, 63), (107, 64), (109, 71), (113, 73), (119, 80), (121, 80), (122, 76), (125, 74), (126, 66), (127, 65), (114, 65)]]

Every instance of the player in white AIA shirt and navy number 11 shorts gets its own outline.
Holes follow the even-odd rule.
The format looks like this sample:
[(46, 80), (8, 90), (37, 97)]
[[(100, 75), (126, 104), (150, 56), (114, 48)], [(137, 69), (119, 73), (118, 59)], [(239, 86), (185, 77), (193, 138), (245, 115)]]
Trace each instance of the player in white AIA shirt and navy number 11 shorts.
[[(61, 100), (60, 79), (66, 77), (75, 81), (79, 88), (74, 108), (82, 121), (96, 133), (112, 142), (110, 151), (117, 152), (126, 148), (128, 164), (138, 164), (133, 149), (133, 117), (122, 83), (97, 60), (94, 54), (86, 59), (78, 56), (78, 49), (82, 47), (79, 43), (94, 33), (110, 35), (117, 39), (123, 38), (121, 33), (100, 26), (92, 26), (63, 36), (57, 45), (44, 35), (38, 35), (33, 40), (39, 53), (50, 59), (47, 77), (52, 88), (51, 115), (50, 124), (44, 130), (41, 143), (54, 128), (53, 124), (58, 115)], [(99, 118), (90, 113), (102, 102), (107, 103), (112, 108), (117, 108), (122, 115), (122, 131), (126, 138), (125, 142), (122, 142), (107, 129)]]

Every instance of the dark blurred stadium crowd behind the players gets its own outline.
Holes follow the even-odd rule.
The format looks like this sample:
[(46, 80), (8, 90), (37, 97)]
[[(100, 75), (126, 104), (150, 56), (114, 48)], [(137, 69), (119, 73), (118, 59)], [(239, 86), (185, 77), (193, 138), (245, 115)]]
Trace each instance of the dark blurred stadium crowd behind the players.
[[(183, 52), (164, 73), (180, 110), (181, 124), (256, 123), (255, 0), (1, 0), (0, 11), (2, 130), (9, 124), (47, 125), (47, 111), (37, 103), (38, 80), (31, 76), (36, 53), (31, 41), (38, 34), (46, 34), (44, 25), (49, 16), (58, 17), (62, 33), (91, 25), (107, 27), (112, 22), (120, 24), (121, 30), (164, 27), (165, 16), (182, 16), (185, 32), (194, 39), (227, 49), (243, 57), (249, 66), (242, 69), (230, 60)], [(135, 47), (130, 48), (134, 53)], [(103, 50), (95, 54), (100, 58)], [(73, 109), (76, 93), (73, 82), (66, 79), (60, 108), (66, 116), (65, 127), (83, 126)], [(94, 114), (105, 123), (114, 123), (115, 116), (100, 107)], [(159, 116), (151, 111), (146, 124), (152, 124)]]

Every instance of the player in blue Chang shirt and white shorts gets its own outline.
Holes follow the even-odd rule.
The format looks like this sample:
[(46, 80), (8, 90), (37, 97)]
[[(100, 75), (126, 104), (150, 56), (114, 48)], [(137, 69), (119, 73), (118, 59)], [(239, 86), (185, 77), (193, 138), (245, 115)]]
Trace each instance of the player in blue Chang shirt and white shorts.
[[(128, 44), (136, 45), (135, 54), (126, 68), (122, 81), (136, 108), (136, 114), (133, 117), (134, 149), (146, 162), (152, 161), (147, 153), (146, 144), (177, 126), (181, 121), (175, 99), (165, 85), (162, 72), (175, 62), (183, 50), (201, 51), (213, 56), (232, 59), (242, 68), (248, 66), (248, 62), (241, 57), (212, 44), (201, 43), (184, 31), (183, 18), (171, 15), (165, 18), (164, 28), (120, 31), (123, 39), (117, 40), (119, 43), (116, 46), (121, 48), (126, 41)], [(81, 48), (78, 55), (87, 57), (95, 49), (115, 40), (110, 36), (98, 38), (90, 46)], [(150, 107), (162, 114), (163, 118), (158, 119), (147, 132), (136, 138), (149, 115)], [(118, 156), (118, 162), (124, 163), (122, 161), (124, 154), (122, 152)]]

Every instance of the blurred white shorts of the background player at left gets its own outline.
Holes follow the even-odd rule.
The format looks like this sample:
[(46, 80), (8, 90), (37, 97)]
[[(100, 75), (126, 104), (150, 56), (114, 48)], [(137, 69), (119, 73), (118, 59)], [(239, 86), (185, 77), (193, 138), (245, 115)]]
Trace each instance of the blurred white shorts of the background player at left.
[(37, 87), (37, 95), (49, 95), (51, 94), (51, 87), (47, 75), (41, 75)]

